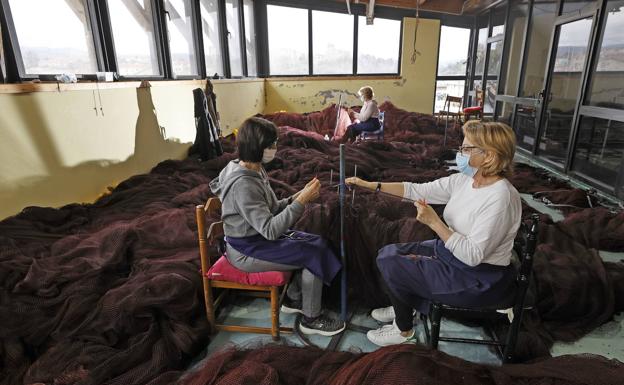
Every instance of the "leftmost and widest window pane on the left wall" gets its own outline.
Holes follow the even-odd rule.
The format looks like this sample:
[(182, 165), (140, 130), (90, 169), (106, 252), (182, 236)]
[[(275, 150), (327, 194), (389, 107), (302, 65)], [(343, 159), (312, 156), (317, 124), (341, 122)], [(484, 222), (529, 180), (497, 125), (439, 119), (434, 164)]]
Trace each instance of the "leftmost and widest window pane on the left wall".
[(84, 3), (9, 0), (26, 74), (92, 74), (97, 59)]

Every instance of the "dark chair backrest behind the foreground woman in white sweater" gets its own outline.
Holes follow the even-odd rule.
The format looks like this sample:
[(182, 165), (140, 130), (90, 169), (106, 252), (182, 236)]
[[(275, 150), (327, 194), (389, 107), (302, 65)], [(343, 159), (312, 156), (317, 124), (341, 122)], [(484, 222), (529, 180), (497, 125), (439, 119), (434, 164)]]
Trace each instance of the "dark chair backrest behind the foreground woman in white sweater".
[(527, 225), (526, 223), (522, 223), (518, 232), (521, 245), (515, 247), (520, 258), (520, 268), (518, 269), (516, 278), (518, 291), (516, 292), (516, 299), (514, 302), (515, 314), (519, 314), (524, 307), (524, 299), (529, 288), (529, 281), (531, 280), (531, 273), (533, 271), (533, 254), (535, 254), (535, 249), (537, 247), (538, 226), (539, 215), (533, 214), (531, 216), (531, 224)]

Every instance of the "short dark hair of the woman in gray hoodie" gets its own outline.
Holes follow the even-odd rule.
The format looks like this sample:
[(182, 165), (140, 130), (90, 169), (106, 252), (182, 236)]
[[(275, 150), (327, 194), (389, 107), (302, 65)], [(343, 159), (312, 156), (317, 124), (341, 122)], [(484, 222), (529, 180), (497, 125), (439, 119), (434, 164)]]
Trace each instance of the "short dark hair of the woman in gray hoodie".
[(260, 162), (265, 148), (277, 140), (277, 127), (262, 118), (249, 118), (243, 122), (236, 135), (238, 158), (243, 162)]

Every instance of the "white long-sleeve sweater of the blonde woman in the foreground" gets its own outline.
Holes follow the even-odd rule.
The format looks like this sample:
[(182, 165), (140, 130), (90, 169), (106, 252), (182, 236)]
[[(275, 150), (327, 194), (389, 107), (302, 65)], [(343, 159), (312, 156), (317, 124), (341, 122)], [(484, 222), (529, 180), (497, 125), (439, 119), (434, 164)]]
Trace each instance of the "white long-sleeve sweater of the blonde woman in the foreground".
[(453, 234), (445, 246), (469, 266), (507, 266), (520, 227), (520, 194), (507, 179), (472, 187), (473, 179), (458, 173), (429, 183), (404, 182), (404, 197), (446, 204), (444, 220)]

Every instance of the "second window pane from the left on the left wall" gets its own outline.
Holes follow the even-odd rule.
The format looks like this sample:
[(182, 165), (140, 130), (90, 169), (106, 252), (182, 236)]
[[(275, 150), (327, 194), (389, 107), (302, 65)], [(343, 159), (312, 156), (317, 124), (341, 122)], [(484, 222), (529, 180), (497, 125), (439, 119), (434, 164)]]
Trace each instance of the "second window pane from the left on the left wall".
[(160, 74), (149, 0), (108, 1), (117, 67), (122, 76)]

